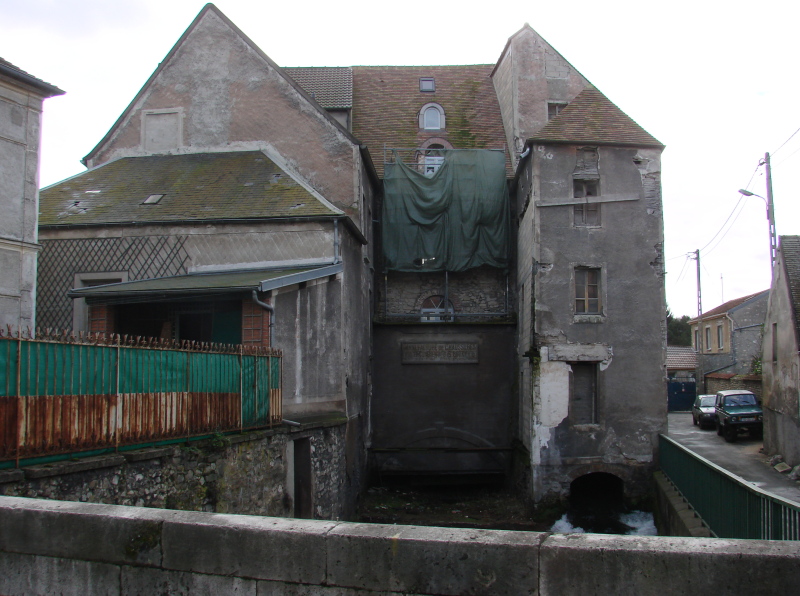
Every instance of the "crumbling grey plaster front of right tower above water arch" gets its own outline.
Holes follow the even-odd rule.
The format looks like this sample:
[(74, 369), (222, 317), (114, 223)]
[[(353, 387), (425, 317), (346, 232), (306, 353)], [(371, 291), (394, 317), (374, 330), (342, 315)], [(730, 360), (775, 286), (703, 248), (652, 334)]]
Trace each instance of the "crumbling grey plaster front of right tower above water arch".
[[(527, 290), (532, 271), (534, 335), (528, 344), (522, 329), (518, 349), (521, 357), (528, 351), (534, 375), (521, 401), (523, 412), (531, 402), (523, 441), (537, 500), (566, 496), (577, 469), (611, 471), (636, 483), (626, 484), (629, 495), (645, 492), (646, 475), (634, 469), (652, 468), (666, 424), (660, 152), (599, 154), (600, 227), (573, 225), (575, 147), (534, 146), (531, 188), (519, 190), (529, 197), (517, 200), (530, 199), (519, 226), (520, 247), (530, 252), (521, 248), (518, 275)], [(575, 315), (576, 266), (601, 269), (601, 316)], [(570, 421), (571, 361), (598, 363), (595, 424)]]

